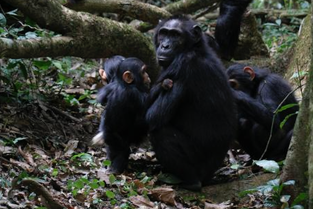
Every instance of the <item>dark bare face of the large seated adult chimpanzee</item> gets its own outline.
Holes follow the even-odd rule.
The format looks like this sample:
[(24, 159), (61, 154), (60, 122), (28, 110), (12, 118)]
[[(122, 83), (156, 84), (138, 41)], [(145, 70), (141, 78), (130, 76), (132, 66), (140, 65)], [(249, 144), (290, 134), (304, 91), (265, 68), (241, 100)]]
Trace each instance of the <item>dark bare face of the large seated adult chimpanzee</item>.
[(169, 66), (185, 46), (186, 38), (181, 28), (181, 21), (173, 19), (164, 23), (157, 31), (156, 58), (163, 67)]

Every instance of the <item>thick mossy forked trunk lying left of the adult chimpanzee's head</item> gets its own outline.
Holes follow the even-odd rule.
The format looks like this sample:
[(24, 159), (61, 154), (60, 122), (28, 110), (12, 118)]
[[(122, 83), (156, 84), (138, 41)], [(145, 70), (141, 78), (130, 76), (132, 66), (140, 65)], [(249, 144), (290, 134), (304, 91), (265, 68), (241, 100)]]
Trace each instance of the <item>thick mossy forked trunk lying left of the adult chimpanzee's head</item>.
[(154, 46), (151, 40), (132, 26), (75, 12), (56, 0), (5, 0), (18, 7), (41, 27), (64, 37), (28, 40), (0, 38), (0, 55), (8, 58), (43, 56), (109, 57), (115, 54), (134, 56), (149, 65), (149, 74), (156, 78)]

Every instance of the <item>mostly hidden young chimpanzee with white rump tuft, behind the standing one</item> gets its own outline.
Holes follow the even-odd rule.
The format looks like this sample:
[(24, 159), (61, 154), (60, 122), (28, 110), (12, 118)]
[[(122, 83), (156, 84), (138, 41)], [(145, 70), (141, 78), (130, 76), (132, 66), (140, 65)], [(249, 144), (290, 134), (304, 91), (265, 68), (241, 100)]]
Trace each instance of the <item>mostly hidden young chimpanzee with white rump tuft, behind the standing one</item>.
[[(125, 60), (125, 57), (116, 55), (111, 58), (108, 58), (104, 64), (103, 68), (99, 69), (100, 77), (109, 84), (115, 79), (116, 71), (119, 64)], [(103, 104), (104, 105), (104, 104)], [(104, 144), (103, 131), (104, 131), (104, 121), (105, 121), (105, 111), (101, 115), (100, 125), (98, 129), (98, 134), (94, 136), (91, 140), (91, 145), (101, 145)]]

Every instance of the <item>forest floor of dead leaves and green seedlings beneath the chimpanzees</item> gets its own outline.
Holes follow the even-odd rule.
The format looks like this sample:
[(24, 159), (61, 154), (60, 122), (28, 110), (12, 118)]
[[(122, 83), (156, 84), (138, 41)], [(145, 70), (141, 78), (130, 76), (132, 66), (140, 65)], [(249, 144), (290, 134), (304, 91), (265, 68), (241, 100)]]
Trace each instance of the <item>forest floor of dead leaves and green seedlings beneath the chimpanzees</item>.
[(244, 191), (266, 185), (277, 174), (251, 165), (235, 144), (212, 185), (201, 192), (181, 189), (177, 179), (162, 174), (148, 140), (133, 147), (127, 171), (110, 174), (105, 148), (89, 147), (100, 112), (81, 114), (39, 100), (1, 104), (0, 209), (264, 208), (258, 189)]

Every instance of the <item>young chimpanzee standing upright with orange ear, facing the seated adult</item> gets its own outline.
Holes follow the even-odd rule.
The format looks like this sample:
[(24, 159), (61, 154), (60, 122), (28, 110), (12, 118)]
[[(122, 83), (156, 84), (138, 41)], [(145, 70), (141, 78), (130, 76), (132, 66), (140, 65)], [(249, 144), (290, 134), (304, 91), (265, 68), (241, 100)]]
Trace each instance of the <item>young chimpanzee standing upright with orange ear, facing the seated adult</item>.
[(144, 104), (149, 84), (146, 65), (137, 58), (126, 58), (118, 65), (115, 79), (98, 94), (98, 101), (107, 104), (100, 130), (113, 173), (123, 172), (130, 145), (139, 143), (146, 135)]

